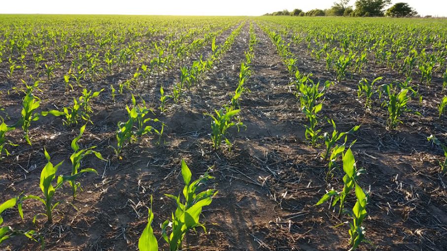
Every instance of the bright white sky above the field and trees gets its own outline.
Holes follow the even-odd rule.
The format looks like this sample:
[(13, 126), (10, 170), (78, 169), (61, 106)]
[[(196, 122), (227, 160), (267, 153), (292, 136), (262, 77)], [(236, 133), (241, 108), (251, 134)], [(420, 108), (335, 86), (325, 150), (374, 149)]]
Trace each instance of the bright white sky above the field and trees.
[[(139, 14), (259, 16), (294, 8), (326, 9), (335, 0), (15, 0), (2, 1), (0, 13)], [(392, 0), (408, 2), (421, 15), (446, 16), (446, 0)], [(355, 0), (351, 0), (353, 5)]]

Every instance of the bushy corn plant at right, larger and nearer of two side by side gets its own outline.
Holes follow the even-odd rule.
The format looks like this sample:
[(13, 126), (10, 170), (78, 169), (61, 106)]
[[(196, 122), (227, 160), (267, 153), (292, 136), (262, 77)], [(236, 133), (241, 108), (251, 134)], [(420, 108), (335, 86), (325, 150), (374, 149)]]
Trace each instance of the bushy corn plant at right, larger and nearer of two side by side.
[(397, 127), (398, 123), (403, 123), (400, 120), (400, 117), (405, 112), (413, 112), (416, 115), (420, 115), (419, 112), (413, 111), (412, 109), (407, 107), (407, 103), (410, 100), (410, 96), (408, 92), (411, 91), (413, 93), (414, 90), (410, 87), (402, 88), (398, 93), (395, 88), (393, 88), (392, 84), (383, 85), (382, 86), (383, 93), (388, 96), (388, 99), (382, 102), (382, 106), (387, 107), (388, 109), (388, 129), (393, 130)]

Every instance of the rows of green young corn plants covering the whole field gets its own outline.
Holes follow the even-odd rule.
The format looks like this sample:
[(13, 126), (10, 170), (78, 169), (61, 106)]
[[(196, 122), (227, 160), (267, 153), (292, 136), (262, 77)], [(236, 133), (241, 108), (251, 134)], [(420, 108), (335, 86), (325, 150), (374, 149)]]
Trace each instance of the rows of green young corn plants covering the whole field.
[[(61, 203), (71, 199), (70, 205), (79, 206), (81, 182), (89, 186), (83, 182), (88, 175), (101, 175), (86, 163), (114, 165), (127, 158), (132, 146), (148, 140), (163, 149), (171, 126), (165, 120), (196, 102), (193, 93), (204, 91), (208, 76), (242, 43), (246, 49), (238, 53), (243, 60), (236, 62), (239, 81), (230, 83), (234, 91), (223, 105), (206, 107), (203, 114), (210, 121), (206, 137), (211, 152), (238, 151), (232, 139), (247, 128), (241, 110), (250, 107), (241, 100), (253, 81), (259, 32), (271, 39), (287, 69), (294, 98), (284, 101), (300, 107), (306, 120), (305, 143), (319, 152), (327, 167), (328, 189), (315, 194), (321, 198), (315, 207), (326, 202), (333, 210), (337, 207), (340, 225), (347, 222), (350, 250), (368, 242), (364, 221), (371, 191), (360, 179), (367, 170), (357, 167), (354, 157), (356, 132), (362, 126), (341, 131), (340, 121), (322, 116), (327, 93), (355, 80), (358, 84), (349, 95), (366, 114), (382, 116), (384, 131), (411, 126), (406, 123), (409, 116), (445, 124), (447, 29), (442, 20), (5, 15), (0, 23), (0, 163), (20, 166), (14, 172), (30, 177), (41, 169), (39, 179), (29, 178), (22, 190), (1, 196), (0, 215), (7, 219), (0, 216), (0, 243), (26, 236), (45, 249), (45, 229), (54, 223), (55, 212), (62, 215)], [(311, 68), (304, 71), (303, 52), (329, 77), (315, 76)], [(103, 120), (114, 111), (123, 116), (109, 126)], [(101, 112), (105, 119), (99, 117)], [(50, 132), (45, 124), (52, 125)], [(332, 130), (326, 131), (325, 125)], [(443, 132), (434, 129), (425, 136), (444, 152), (441, 176), (447, 171)], [(68, 153), (51, 145), (55, 137), (71, 142)], [(32, 155), (44, 164), (30, 169)], [(55, 158), (62, 161), (56, 163)], [(68, 165), (64, 158), (69, 158)], [(160, 225), (161, 236), (156, 235), (152, 222), (162, 209), (152, 207), (151, 196), (139, 250), (182, 250), (190, 230), (206, 232), (200, 216), (217, 190), (202, 186), (214, 179), (212, 171), (193, 181), (186, 161), (181, 161), (184, 187), (178, 195), (165, 194), (175, 203), (172, 217)]]

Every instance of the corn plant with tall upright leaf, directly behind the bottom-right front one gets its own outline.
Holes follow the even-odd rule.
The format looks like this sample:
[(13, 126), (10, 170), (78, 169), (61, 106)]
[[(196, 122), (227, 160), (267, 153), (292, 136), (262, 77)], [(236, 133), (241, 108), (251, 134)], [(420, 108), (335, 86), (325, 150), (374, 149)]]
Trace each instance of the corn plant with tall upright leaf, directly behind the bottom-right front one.
[(332, 206), (335, 207), (335, 205), (339, 203), (339, 217), (342, 215), (342, 213), (344, 213), (344, 203), (346, 200), (346, 196), (349, 194), (352, 188), (355, 187), (359, 175), (363, 174), (365, 171), (364, 169), (357, 170), (354, 155), (352, 154), (350, 148), (346, 151), (346, 153), (343, 154), (343, 170), (345, 173), (343, 177), (343, 190), (338, 192), (335, 189), (331, 189), (326, 194), (324, 194), (323, 197), (321, 197), (321, 199), (315, 204), (316, 206), (320, 205), (334, 197), (332, 200)]

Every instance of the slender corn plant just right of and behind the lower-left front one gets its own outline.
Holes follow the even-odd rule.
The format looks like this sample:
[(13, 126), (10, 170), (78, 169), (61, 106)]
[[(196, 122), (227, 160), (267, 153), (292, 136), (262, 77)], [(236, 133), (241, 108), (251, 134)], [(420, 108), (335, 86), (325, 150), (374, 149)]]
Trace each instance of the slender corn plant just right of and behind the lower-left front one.
[(93, 169), (93, 168), (81, 168), (81, 164), (82, 164), (82, 160), (93, 154), (95, 155), (97, 158), (104, 160), (103, 156), (101, 156), (101, 153), (95, 151), (94, 149), (96, 148), (96, 146), (92, 146), (86, 149), (80, 149), (79, 145), (78, 145), (78, 141), (79, 139), (82, 137), (82, 134), (84, 133), (85, 130), (85, 126), (82, 126), (80, 131), (79, 131), (79, 135), (77, 137), (75, 137), (72, 141), (71, 141), (71, 149), (73, 150), (73, 154), (71, 154), (70, 156), (70, 160), (71, 160), (71, 176), (73, 177), (72, 179), (70, 179), (68, 182), (70, 184), (71, 187), (71, 195), (73, 196), (73, 199), (76, 197), (77, 194), (77, 188), (81, 188), (81, 184), (79, 182), (76, 182), (76, 177), (78, 174), (80, 173), (84, 173), (84, 172), (89, 172), (89, 173), (95, 173), (98, 174), (98, 172)]

